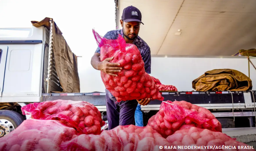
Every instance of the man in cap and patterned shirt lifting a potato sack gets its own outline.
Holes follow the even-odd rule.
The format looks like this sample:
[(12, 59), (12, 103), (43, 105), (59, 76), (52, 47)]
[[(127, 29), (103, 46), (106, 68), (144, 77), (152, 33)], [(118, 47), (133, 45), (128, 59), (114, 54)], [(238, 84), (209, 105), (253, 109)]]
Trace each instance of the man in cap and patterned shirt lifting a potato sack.
[[(123, 10), (122, 19), (120, 20), (122, 29), (107, 32), (104, 38), (117, 39), (119, 35), (125, 39), (127, 44), (134, 44), (140, 50), (141, 56), (145, 64), (146, 73), (151, 73), (151, 54), (150, 48), (145, 41), (138, 36), (140, 31), (141, 12), (134, 6), (128, 6)], [(143, 23), (142, 23), (143, 24)], [(112, 58), (106, 58), (100, 61), (100, 48), (96, 50), (92, 56), (91, 64), (96, 70), (101, 70), (111, 76), (117, 76), (113, 73), (121, 72), (122, 67), (118, 63), (110, 63)], [(116, 98), (106, 89), (106, 103), (107, 103), (107, 120), (108, 130), (111, 130), (118, 125), (134, 124), (134, 115), (138, 103), (140, 105), (148, 105), (149, 98), (141, 100), (128, 100), (115, 103)], [(141, 111), (140, 111), (141, 112)]]

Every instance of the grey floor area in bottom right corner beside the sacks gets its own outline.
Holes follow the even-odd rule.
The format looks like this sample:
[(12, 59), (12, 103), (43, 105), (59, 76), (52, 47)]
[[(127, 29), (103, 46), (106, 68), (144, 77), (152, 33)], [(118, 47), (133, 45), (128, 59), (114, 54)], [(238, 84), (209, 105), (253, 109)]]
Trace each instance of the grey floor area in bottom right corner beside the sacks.
[(222, 132), (256, 150), (256, 128), (223, 128)]

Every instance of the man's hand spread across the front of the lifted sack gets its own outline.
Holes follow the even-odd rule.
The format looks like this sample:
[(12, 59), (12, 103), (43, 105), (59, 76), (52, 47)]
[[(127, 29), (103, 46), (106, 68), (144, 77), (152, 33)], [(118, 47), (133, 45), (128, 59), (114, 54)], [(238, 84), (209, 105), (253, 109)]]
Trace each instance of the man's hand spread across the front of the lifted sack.
[(116, 67), (120, 66), (118, 63), (110, 63), (109, 61), (113, 60), (114, 57), (111, 58), (106, 58), (104, 61), (101, 61), (98, 63), (98, 70), (101, 70), (104, 73), (107, 73), (111, 76), (117, 76), (116, 74), (113, 73), (119, 73), (121, 72), (122, 68), (121, 67)]

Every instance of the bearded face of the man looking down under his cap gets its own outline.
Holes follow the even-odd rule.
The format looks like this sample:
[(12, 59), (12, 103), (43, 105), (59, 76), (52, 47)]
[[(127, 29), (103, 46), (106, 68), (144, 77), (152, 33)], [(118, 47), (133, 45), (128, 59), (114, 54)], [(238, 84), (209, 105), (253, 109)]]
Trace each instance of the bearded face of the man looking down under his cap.
[(134, 40), (140, 31), (140, 23), (136, 21), (123, 22), (121, 20), (121, 25), (123, 27), (124, 36), (129, 40)]

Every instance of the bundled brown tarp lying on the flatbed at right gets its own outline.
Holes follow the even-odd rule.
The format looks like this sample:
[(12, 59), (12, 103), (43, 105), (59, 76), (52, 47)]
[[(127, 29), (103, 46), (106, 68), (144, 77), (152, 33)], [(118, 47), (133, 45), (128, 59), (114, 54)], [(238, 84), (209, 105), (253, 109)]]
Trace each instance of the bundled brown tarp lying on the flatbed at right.
[(253, 85), (244, 73), (232, 69), (215, 69), (192, 82), (196, 91), (244, 91), (251, 90)]

